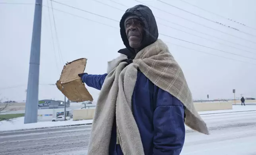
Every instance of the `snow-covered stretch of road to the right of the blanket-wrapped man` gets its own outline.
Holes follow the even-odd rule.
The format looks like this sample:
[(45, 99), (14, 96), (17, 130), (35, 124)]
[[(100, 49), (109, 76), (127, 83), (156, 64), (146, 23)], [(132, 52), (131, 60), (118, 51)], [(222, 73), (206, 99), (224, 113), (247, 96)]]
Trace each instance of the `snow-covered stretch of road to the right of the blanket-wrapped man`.
[(210, 135), (186, 133), (181, 155), (256, 155), (256, 112), (202, 115)]

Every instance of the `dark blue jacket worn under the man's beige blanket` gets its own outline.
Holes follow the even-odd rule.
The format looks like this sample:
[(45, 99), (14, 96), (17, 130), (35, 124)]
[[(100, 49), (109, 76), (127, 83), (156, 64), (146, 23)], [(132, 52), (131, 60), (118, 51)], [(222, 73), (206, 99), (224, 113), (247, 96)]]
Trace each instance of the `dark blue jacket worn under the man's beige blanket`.
[[(101, 90), (107, 74), (83, 75), (89, 87)], [(154, 85), (142, 72), (132, 95), (132, 112), (145, 155), (179, 155), (185, 139), (184, 106), (174, 96)], [(116, 119), (112, 126), (109, 155), (123, 155), (116, 144)]]

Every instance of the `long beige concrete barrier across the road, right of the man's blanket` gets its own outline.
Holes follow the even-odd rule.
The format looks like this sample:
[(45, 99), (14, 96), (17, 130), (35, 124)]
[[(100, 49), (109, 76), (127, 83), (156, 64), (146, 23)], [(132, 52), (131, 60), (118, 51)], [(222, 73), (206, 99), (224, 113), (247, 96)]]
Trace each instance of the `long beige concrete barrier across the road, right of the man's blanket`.
[(194, 105), (198, 112), (232, 109), (232, 102), (194, 103)]

